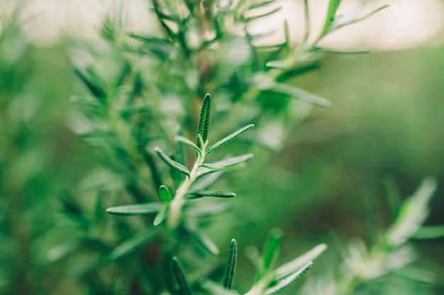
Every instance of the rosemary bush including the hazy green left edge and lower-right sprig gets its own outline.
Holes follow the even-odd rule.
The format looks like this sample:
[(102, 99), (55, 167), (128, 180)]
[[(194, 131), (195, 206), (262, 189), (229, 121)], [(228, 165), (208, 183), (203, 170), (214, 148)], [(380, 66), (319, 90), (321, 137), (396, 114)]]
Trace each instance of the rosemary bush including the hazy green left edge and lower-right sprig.
[[(276, 159), (330, 105), (296, 78), (335, 52), (323, 37), (377, 11), (342, 15), (331, 0), (321, 32), (312, 33), (304, 1), (304, 40), (292, 42), (283, 22), (283, 42), (257, 45), (264, 36), (248, 25), (276, 12), (271, 4), (155, 0), (158, 35), (126, 32), (113, 11), (101, 40), (70, 46), (72, 72), (59, 83), (57, 74), (33, 73), (48, 64), (35, 63), (39, 52), (21, 39), (14, 16), (2, 18), (2, 292), (432, 294), (433, 274), (411, 266), (409, 243), (443, 236), (440, 226), (422, 226), (437, 187), (430, 176), (407, 198), (384, 181), (387, 226), (366, 198), (365, 238), (306, 237), (294, 241), (298, 252), (279, 255), (292, 246), (284, 233), (307, 224), (281, 223), (301, 204), (275, 199), (273, 190), (294, 176)], [(72, 105), (35, 100), (70, 86)], [(62, 136), (62, 120), (94, 148)]]

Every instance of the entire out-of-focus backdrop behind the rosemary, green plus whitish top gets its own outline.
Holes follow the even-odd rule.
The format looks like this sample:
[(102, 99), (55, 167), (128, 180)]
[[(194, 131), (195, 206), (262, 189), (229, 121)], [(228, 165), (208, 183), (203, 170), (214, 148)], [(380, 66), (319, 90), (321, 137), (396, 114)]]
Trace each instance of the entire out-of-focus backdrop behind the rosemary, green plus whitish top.
[[(36, 250), (52, 216), (60, 214), (60, 195), (74, 192), (101, 165), (97, 151), (67, 128), (68, 98), (79, 92), (70, 50), (76, 38), (94, 40), (101, 18), (119, 5), (128, 30), (155, 32), (147, 2), (0, 1), (0, 289), (16, 284), (13, 294), (49, 294), (43, 291), (48, 286), (57, 286), (54, 294), (82, 291), (69, 279), (55, 282), (64, 249), (45, 253), (55, 261), (52, 267)], [(283, 1), (286, 8), (275, 16), (289, 20), (295, 42), (303, 23), (299, 2)], [(344, 2), (344, 9), (355, 3)], [(444, 224), (444, 1), (367, 2), (390, 7), (332, 35), (326, 45), (372, 53), (328, 54), (319, 69), (294, 81), (332, 105), (313, 110), (282, 153), (265, 154), (271, 170), (254, 169), (248, 181), (239, 180), (243, 197), (234, 201), (231, 227), (213, 226), (217, 243), (235, 233), (240, 245), (260, 245), (279, 226), (285, 260), (313, 241), (328, 242), (333, 233), (343, 241), (365, 237), (368, 204), (378, 226), (388, 225), (384, 183), (394, 180), (407, 197), (426, 175), (439, 181), (426, 224)], [(316, 30), (326, 1), (310, 4)], [(10, 21), (18, 23), (11, 30)], [(414, 243), (421, 263), (438, 274), (436, 294), (444, 294), (444, 239)], [(250, 268), (240, 265), (245, 273)], [(28, 289), (35, 286), (43, 293)]]

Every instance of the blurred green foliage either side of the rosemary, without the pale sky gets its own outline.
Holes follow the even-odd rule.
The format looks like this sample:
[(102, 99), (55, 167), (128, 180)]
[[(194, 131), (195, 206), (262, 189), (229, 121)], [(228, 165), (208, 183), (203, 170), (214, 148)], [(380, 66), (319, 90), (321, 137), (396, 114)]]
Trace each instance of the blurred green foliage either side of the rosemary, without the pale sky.
[[(81, 92), (67, 54), (71, 41), (35, 46), (4, 16), (0, 33), (1, 293), (89, 294), (85, 286), (99, 274), (84, 275), (82, 284), (74, 277), (84, 272), (79, 259), (94, 260), (91, 250), (79, 248), (75, 261), (60, 260), (83, 234), (58, 227), (66, 207), (60, 199), (76, 195), (94, 207), (94, 194), (82, 195), (82, 180), (101, 168), (99, 152), (66, 127), (73, 108), (68, 98)], [(316, 108), (291, 127), (282, 152), (257, 148), (256, 157), (267, 165), (252, 162), (246, 174), (233, 176), (231, 187), (240, 185), (234, 209), (209, 226), (209, 236), (218, 245), (235, 237), (242, 249), (261, 245), (265, 233), (279, 226), (285, 233), (282, 260), (333, 236), (366, 238), (369, 223), (389, 224), (384, 183), (395, 181), (408, 196), (426, 175), (440, 183), (426, 224), (443, 224), (443, 76), (442, 45), (327, 54), (319, 69), (292, 83), (328, 98), (331, 107)], [(218, 93), (213, 96), (217, 101)], [(294, 100), (264, 103), (292, 108)], [(242, 149), (242, 143), (235, 146)], [(418, 263), (437, 276), (430, 294), (443, 294), (444, 239), (414, 243), (424, 258)], [(328, 265), (329, 259), (320, 260)], [(240, 286), (251, 268), (240, 255)], [(407, 294), (399, 291), (404, 281), (394, 284), (380, 294)]]

